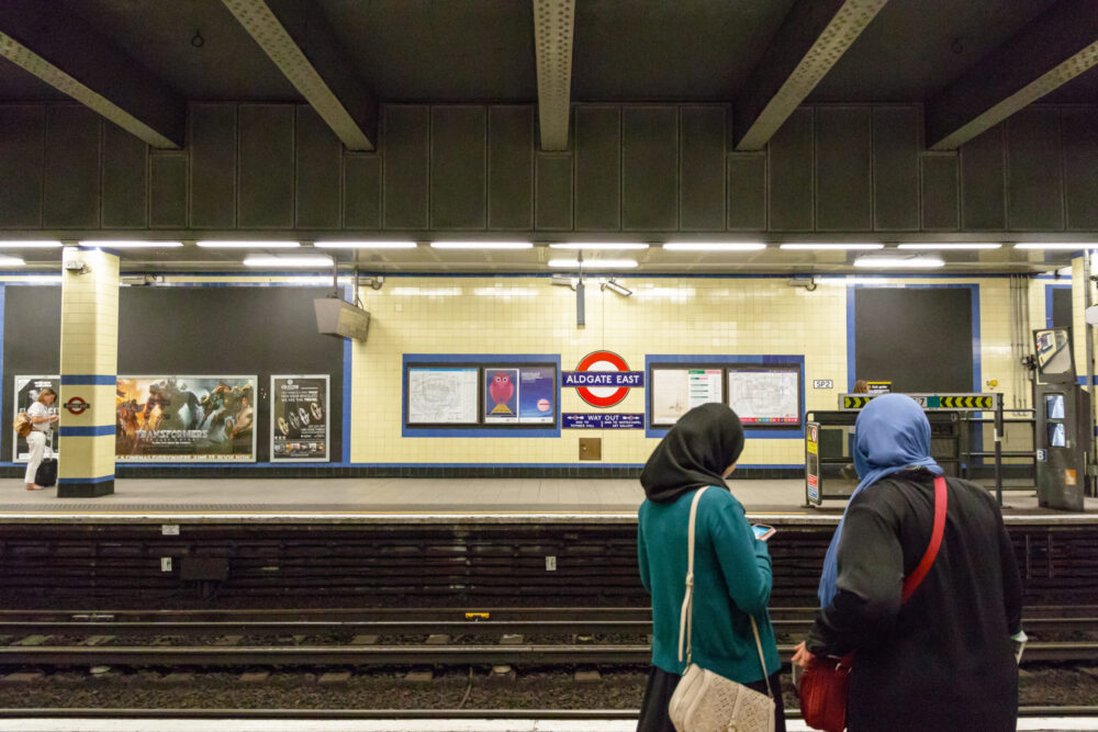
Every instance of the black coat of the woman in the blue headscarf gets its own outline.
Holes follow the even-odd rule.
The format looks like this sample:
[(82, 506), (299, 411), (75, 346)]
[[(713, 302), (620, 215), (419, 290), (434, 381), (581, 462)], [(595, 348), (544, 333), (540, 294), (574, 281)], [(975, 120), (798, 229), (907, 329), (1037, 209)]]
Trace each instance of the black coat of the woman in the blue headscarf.
[(927, 551), (933, 477), (903, 472), (855, 497), (839, 542), (838, 595), (808, 637), (816, 654), (854, 652), (850, 732), (1015, 730), (1021, 581), (995, 499), (946, 481), (938, 558), (900, 606), (903, 578)]

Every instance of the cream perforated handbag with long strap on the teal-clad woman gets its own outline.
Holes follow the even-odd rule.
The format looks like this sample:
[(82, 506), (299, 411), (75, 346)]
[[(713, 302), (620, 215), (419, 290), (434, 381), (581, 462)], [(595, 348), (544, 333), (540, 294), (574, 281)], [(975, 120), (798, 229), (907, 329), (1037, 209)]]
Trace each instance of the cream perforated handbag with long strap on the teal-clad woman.
[[(762, 677), (766, 679), (768, 694), (760, 694), (737, 684), (720, 674), (691, 663), (691, 626), (694, 615), (694, 523), (697, 503), (706, 488), (694, 494), (690, 507), (690, 547), (686, 564), (686, 597), (679, 619), (679, 661), (683, 660), (683, 641), (686, 643), (686, 673), (675, 687), (668, 705), (671, 722), (679, 732), (773, 732), (774, 692), (766, 676), (759, 627), (751, 618), (751, 630), (759, 649)], [(768, 696), (769, 695), (769, 696)]]

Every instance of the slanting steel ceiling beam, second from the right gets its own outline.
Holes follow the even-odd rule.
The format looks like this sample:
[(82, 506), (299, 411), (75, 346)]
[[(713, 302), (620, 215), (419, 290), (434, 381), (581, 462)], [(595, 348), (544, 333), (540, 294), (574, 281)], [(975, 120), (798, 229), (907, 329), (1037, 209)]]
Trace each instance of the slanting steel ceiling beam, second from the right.
[(733, 102), (737, 150), (761, 150), (887, 0), (798, 0)]

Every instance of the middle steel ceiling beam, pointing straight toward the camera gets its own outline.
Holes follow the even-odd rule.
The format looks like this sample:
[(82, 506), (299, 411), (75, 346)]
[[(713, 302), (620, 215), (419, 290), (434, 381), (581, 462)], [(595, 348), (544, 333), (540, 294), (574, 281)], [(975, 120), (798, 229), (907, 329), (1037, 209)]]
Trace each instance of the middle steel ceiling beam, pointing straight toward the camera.
[(572, 97), (573, 0), (534, 0), (534, 44), (538, 61), (538, 122), (542, 150), (568, 149)]

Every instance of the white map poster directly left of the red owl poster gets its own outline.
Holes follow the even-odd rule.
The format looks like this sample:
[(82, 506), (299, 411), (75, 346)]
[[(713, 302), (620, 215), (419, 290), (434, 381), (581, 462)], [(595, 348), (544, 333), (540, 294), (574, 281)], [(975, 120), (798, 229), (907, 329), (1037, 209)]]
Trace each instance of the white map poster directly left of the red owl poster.
[(477, 424), (477, 368), (410, 367), (407, 374), (407, 424)]

